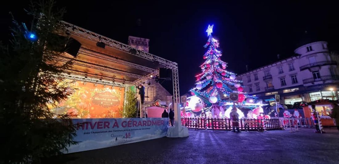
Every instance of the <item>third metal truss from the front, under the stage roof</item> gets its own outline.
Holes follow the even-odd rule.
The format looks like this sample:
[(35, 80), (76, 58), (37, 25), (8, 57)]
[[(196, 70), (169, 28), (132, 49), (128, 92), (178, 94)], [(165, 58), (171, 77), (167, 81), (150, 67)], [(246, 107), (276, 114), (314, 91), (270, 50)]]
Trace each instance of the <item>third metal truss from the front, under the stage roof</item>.
[(61, 58), (63, 58), (63, 59), (61, 59), (62, 62), (67, 62), (69, 60), (73, 60), (75, 65), (79, 65), (79, 66), (83, 66), (83, 67), (94, 68), (94, 69), (103, 70), (103, 71), (107, 71), (107, 72), (114, 73), (114, 74), (125, 75), (125, 76), (128, 76), (128, 77), (137, 78), (137, 79), (140, 79), (140, 78), (143, 77), (142, 75), (137, 75), (137, 74), (121, 71), (121, 70), (116, 70), (116, 69), (113, 69), (113, 68), (110, 68), (110, 67), (107, 67), (107, 66), (87, 63), (87, 62), (83, 62), (83, 61), (80, 61), (80, 60), (71, 59), (71, 58), (67, 58), (67, 57), (61, 57)]

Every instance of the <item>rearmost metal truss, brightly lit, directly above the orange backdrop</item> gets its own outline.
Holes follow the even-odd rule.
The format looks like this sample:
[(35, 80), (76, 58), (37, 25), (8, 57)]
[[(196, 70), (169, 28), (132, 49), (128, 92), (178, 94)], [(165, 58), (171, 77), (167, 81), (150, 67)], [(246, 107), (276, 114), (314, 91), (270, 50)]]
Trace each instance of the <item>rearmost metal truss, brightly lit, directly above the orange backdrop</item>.
[(112, 81), (108, 81), (108, 80), (104, 80), (104, 79), (100, 80), (100, 79), (96, 79), (96, 78), (85, 77), (85, 76), (75, 75), (75, 74), (62, 73), (62, 74), (60, 74), (59, 77), (70, 79), (70, 80), (79, 80), (79, 81), (83, 81), (83, 82), (96, 83), (96, 84), (127, 87), (127, 85), (122, 84), (122, 83), (114, 83)]

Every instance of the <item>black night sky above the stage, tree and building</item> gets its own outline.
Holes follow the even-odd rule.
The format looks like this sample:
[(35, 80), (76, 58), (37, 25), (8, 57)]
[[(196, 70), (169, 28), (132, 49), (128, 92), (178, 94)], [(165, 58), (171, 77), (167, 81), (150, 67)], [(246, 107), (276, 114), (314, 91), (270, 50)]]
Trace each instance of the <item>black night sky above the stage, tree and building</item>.
[[(28, 2), (1, 6), (1, 40), (8, 40), (9, 11), (20, 21)], [(127, 43), (129, 35), (150, 39), (149, 52), (179, 64), (181, 95), (194, 86), (206, 49), (208, 24), (220, 41), (221, 59), (235, 73), (292, 56), (305, 30), (339, 50), (338, 7), (330, 1), (57, 1), (64, 20)], [(136, 26), (141, 19), (141, 27)], [(163, 83), (172, 93), (170, 82)]]

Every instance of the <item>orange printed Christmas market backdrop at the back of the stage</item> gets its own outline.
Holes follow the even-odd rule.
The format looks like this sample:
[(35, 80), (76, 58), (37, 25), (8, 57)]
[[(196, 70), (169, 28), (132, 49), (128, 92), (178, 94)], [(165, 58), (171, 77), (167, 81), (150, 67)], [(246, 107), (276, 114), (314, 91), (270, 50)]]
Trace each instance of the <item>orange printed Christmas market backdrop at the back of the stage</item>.
[(68, 81), (73, 81), (76, 91), (57, 107), (50, 105), (54, 113), (69, 113), (72, 118), (122, 118), (124, 87)]

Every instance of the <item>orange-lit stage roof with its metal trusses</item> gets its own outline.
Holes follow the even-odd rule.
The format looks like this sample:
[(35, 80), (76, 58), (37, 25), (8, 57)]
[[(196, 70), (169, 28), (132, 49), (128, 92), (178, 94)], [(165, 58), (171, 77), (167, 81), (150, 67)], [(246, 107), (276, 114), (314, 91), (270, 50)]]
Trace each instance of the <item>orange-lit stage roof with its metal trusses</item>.
[[(67, 55), (74, 60), (69, 73), (109, 80), (125, 84), (136, 84), (158, 75), (159, 68), (177, 67), (177, 63), (153, 54), (134, 49), (126, 44), (93, 33), (89, 30), (62, 22), (66, 35), (81, 43), (77, 57)], [(103, 42), (105, 48), (97, 46)]]

